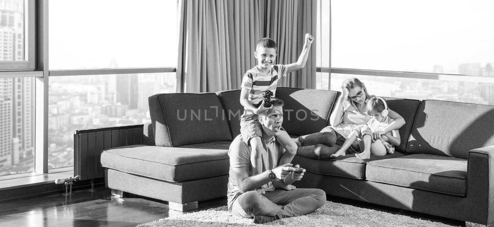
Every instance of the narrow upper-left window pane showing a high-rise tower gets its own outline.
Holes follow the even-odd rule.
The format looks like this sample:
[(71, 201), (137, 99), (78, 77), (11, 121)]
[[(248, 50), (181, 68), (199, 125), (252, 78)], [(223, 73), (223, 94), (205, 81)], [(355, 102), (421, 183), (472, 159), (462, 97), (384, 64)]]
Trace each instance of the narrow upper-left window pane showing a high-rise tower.
[(34, 12), (34, 0), (0, 0), (0, 71), (35, 69)]

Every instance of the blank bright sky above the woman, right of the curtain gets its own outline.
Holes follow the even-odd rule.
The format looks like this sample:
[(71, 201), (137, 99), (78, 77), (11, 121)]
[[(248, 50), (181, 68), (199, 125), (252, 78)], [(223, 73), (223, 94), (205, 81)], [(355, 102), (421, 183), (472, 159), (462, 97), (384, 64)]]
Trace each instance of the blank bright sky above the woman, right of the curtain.
[(332, 0), (332, 67), (445, 71), (494, 62), (494, 1)]

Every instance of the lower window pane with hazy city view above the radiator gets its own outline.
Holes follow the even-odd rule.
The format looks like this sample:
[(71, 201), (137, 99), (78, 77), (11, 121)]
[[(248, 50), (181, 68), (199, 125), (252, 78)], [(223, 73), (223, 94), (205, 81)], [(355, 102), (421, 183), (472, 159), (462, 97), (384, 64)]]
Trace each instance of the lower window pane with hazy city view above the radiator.
[(74, 165), (74, 130), (150, 122), (148, 97), (174, 84), (175, 73), (50, 77), (48, 168)]

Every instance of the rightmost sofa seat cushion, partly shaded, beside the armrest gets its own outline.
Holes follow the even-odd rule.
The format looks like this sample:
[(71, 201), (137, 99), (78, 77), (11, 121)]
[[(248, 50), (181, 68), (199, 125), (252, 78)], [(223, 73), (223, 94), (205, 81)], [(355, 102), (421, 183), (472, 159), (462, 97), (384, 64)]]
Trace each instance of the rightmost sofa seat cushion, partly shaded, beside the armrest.
[(466, 194), (467, 160), (412, 154), (367, 163), (368, 181), (452, 195)]

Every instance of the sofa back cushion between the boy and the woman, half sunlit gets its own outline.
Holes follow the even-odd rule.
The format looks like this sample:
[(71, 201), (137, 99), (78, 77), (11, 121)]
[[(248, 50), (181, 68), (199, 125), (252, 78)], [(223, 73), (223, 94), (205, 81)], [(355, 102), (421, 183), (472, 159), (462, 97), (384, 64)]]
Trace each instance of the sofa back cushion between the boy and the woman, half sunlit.
[(291, 135), (317, 133), (329, 124), (339, 91), (278, 88), (276, 97), (285, 101), (283, 128)]

